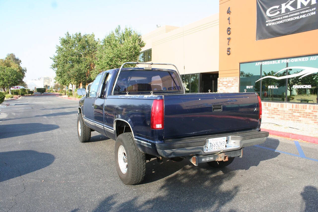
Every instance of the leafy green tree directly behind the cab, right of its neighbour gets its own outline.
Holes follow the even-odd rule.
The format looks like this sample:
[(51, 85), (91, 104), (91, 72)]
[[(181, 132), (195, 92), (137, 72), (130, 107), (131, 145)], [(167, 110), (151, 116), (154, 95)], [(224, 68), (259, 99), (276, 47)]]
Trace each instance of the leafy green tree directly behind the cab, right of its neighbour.
[(107, 35), (97, 48), (95, 77), (99, 72), (119, 68), (124, 62), (137, 61), (145, 43), (141, 34), (127, 28), (122, 31), (118, 26)]

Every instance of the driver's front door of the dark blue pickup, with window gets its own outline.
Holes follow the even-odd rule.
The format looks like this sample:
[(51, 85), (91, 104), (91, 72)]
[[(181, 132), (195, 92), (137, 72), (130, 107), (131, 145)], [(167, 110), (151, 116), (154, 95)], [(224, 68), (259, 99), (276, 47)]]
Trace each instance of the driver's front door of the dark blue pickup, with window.
[(96, 129), (94, 125), (94, 107), (95, 107), (95, 100), (97, 96), (98, 86), (100, 84), (100, 79), (102, 74), (98, 75), (95, 80), (93, 81), (91, 87), (89, 88), (87, 97), (84, 100), (84, 107), (83, 107), (83, 117), (86, 123), (89, 125), (90, 128)]

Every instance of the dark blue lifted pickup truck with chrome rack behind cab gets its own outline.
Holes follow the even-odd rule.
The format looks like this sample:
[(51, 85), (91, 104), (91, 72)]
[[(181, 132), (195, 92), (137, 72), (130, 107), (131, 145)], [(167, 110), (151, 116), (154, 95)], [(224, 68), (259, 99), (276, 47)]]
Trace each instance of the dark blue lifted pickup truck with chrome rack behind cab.
[[(78, 137), (97, 131), (115, 140), (115, 164), (125, 184), (139, 184), (146, 160), (162, 157), (224, 167), (246, 146), (263, 143), (257, 93), (189, 93), (176, 70), (111, 69), (78, 89)], [(150, 64), (128, 62), (128, 64)], [(158, 65), (158, 64), (157, 64)], [(173, 65), (173, 64), (159, 64)], [(173, 65), (174, 66), (174, 65)]]

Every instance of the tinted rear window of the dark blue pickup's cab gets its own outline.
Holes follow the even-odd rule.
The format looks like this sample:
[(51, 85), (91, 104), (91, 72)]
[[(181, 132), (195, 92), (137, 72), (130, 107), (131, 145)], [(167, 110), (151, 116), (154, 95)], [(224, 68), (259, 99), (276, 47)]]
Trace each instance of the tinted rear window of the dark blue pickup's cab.
[(167, 70), (121, 70), (114, 95), (183, 94), (175, 72)]

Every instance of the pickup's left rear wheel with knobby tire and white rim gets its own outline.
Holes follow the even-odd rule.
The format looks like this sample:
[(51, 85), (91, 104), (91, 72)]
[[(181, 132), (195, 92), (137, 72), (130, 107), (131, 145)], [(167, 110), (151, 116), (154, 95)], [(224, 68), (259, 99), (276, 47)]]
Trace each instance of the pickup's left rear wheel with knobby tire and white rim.
[(121, 181), (126, 185), (142, 182), (146, 173), (146, 154), (135, 145), (131, 132), (120, 134), (115, 143), (115, 164)]

